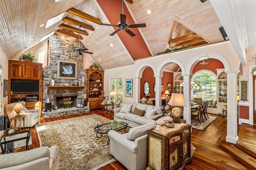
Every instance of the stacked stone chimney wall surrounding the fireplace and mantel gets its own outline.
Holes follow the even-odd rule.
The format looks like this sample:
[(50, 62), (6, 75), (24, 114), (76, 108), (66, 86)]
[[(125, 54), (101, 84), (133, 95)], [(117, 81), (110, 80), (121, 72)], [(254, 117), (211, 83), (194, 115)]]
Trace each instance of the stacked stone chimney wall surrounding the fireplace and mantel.
[[(54, 94), (56, 93), (78, 93), (77, 101), (78, 104), (84, 104), (84, 94), (87, 94), (87, 73), (83, 68), (83, 55), (79, 55), (76, 51), (78, 47), (78, 39), (69, 36), (64, 36), (61, 34), (54, 34), (49, 39), (49, 60), (48, 66), (43, 69), (42, 73), (42, 103), (46, 103), (49, 98), (52, 105), (55, 105)], [(81, 48), (83, 48), (82, 43), (80, 43)], [(85, 86), (84, 89), (79, 90), (53, 90), (49, 89), (48, 86), (51, 85), (50, 75), (52, 73), (57, 75), (57, 63), (58, 60), (73, 61), (77, 62), (77, 79), (84, 76)], [(64, 86), (65, 83), (74, 85), (74, 79), (55, 79), (54, 86)], [(79, 83), (77, 82), (77, 85)], [(44, 106), (44, 105), (43, 105)], [(44, 108), (43, 108), (44, 109)]]

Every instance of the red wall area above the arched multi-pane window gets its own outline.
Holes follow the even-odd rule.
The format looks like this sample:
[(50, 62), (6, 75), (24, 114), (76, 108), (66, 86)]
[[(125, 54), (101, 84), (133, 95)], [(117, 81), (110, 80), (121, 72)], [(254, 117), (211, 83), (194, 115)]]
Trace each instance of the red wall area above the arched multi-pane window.
[(193, 74), (196, 73), (196, 71), (202, 70), (202, 69), (208, 69), (212, 72), (214, 72), (217, 75), (217, 70), (216, 69), (222, 69), (224, 68), (224, 65), (222, 62), (218, 59), (211, 59), (210, 63), (206, 66), (200, 66), (198, 64), (195, 65), (193, 69)]

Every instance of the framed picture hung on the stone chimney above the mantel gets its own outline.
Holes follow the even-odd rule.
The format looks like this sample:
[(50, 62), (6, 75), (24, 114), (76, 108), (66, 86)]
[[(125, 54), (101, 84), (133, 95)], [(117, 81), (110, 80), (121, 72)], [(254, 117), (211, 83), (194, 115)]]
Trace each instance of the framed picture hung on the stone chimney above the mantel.
[(58, 60), (58, 79), (77, 79), (77, 62)]

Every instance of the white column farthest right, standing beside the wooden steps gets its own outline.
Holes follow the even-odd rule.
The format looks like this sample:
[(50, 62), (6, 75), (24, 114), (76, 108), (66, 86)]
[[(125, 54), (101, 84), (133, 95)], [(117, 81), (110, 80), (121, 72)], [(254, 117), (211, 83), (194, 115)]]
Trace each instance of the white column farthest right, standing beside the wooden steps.
[(227, 136), (226, 141), (236, 144), (237, 136), (237, 73), (235, 71), (225, 71), (227, 73)]

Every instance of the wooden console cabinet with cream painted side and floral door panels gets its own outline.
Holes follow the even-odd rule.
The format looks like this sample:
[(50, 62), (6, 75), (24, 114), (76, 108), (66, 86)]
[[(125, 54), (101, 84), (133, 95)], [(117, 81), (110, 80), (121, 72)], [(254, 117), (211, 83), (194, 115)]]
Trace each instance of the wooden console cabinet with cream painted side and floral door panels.
[(148, 162), (154, 170), (180, 170), (191, 163), (191, 125), (162, 125), (159, 133), (148, 130)]

